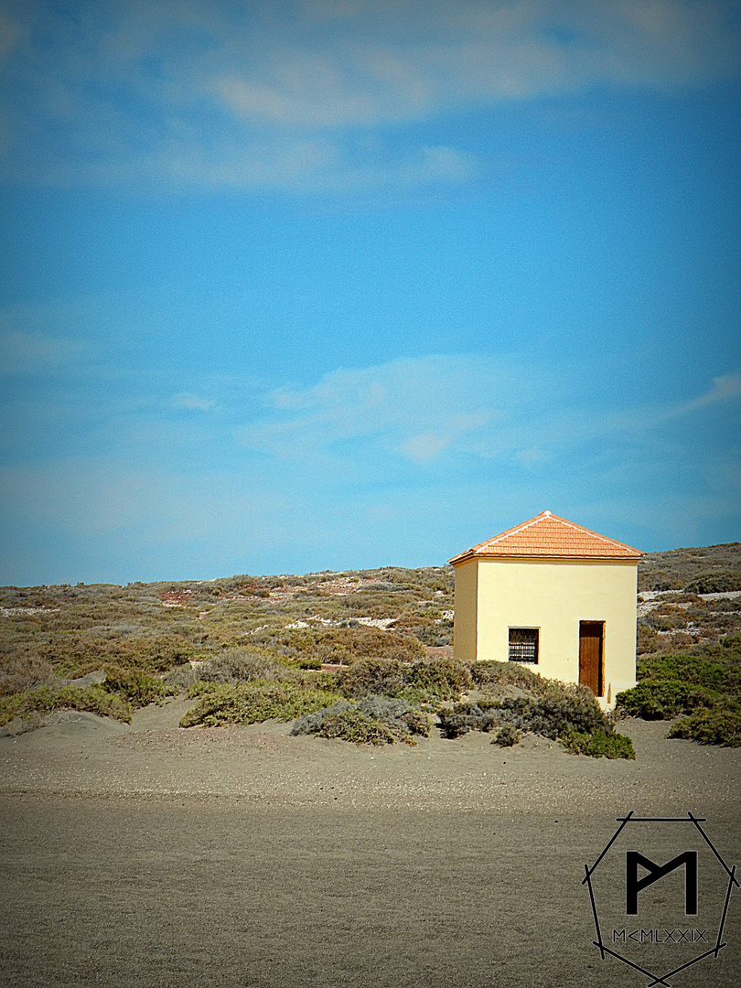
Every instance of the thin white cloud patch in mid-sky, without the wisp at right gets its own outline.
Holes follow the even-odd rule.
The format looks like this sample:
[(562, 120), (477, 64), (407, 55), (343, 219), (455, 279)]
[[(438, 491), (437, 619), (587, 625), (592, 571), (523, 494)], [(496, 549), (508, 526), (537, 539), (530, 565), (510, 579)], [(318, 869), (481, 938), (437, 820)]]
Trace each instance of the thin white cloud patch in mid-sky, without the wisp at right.
[(298, 459), (341, 457), (335, 448), (348, 443), (351, 456), (372, 450), (417, 466), (482, 455), (502, 444), (505, 417), (522, 413), (528, 376), (514, 361), (440, 355), (333, 371), (313, 387), (274, 392), (263, 419), (238, 439)]

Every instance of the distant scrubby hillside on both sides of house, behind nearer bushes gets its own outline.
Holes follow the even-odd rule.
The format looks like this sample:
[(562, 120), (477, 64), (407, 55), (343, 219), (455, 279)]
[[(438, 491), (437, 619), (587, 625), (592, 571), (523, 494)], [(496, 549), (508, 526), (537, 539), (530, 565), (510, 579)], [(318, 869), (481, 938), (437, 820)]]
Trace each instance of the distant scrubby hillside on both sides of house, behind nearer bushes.
[[(641, 651), (741, 630), (741, 543), (647, 554)], [(678, 591), (684, 591), (678, 594)], [(105, 664), (166, 672), (255, 645), (289, 659), (402, 655), (453, 640), (453, 570), (385, 567), (304, 576), (0, 588), (0, 693)], [(650, 649), (647, 647), (650, 645)]]

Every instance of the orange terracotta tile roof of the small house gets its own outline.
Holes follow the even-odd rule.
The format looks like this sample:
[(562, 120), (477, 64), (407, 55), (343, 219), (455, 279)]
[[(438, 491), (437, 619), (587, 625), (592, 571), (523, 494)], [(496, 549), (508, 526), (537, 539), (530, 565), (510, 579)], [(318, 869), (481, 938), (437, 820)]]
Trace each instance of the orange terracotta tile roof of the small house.
[(522, 525), (460, 552), (449, 560), (455, 566), (476, 556), (558, 556), (573, 559), (639, 559), (643, 553), (607, 535), (541, 511)]

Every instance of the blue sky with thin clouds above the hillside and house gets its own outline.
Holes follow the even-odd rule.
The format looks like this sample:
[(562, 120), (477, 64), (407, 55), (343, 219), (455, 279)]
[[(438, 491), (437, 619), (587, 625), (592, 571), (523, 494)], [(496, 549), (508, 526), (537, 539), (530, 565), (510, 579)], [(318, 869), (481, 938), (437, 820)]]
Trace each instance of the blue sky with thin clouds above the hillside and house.
[(0, 3), (0, 583), (741, 537), (741, 5)]

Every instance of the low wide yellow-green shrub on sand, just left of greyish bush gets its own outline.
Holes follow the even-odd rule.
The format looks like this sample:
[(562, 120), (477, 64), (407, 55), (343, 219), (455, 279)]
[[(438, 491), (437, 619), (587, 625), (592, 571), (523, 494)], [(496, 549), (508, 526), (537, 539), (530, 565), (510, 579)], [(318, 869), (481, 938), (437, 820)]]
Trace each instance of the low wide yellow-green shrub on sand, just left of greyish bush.
[(181, 727), (204, 724), (254, 724), (263, 720), (293, 720), (331, 706), (342, 697), (326, 690), (307, 689), (297, 683), (256, 681), (234, 685), (196, 684), (190, 695), (200, 700), (183, 716)]

